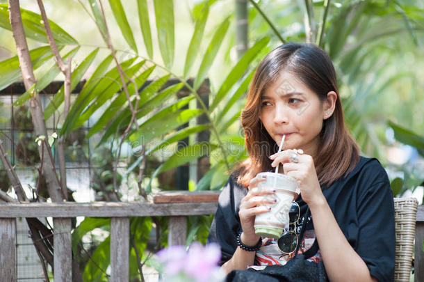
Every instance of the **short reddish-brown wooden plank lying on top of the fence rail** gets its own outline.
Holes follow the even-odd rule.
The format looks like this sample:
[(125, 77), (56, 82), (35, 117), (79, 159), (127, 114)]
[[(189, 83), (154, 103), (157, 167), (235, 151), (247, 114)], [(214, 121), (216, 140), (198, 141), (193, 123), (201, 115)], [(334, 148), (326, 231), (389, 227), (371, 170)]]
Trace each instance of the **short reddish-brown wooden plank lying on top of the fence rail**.
[(217, 202), (220, 191), (161, 191), (154, 195), (153, 203)]

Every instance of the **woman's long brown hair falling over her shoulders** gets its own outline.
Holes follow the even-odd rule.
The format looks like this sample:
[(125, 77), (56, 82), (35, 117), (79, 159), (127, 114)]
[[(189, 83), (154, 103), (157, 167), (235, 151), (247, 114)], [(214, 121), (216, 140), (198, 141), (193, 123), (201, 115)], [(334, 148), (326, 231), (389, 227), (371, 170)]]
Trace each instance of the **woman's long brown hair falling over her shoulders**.
[(268, 156), (277, 152), (278, 148), (259, 118), (261, 97), (284, 71), (300, 79), (321, 101), (327, 99), (329, 91), (337, 94), (334, 113), (323, 121), (320, 150), (313, 159), (320, 185), (328, 187), (354, 169), (359, 162), (359, 148), (344, 123), (331, 59), (320, 47), (299, 43), (287, 43), (272, 50), (256, 69), (240, 118), (250, 157), (234, 169), (237, 182), (247, 187), (257, 173), (272, 170)]

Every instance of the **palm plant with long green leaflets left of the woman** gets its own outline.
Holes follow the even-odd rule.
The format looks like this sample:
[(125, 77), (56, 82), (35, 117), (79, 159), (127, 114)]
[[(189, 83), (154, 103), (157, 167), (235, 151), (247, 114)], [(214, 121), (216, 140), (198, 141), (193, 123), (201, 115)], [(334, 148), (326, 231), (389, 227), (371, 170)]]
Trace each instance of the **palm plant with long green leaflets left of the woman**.
[[(62, 71), (64, 75), (67, 75), (67, 81), (63, 88), (54, 95), (47, 107), (45, 107), (45, 120), (52, 118), (55, 112), (59, 113), (59, 116), (60, 114), (65, 116), (63, 125), (61, 128), (60, 126), (58, 128), (60, 133), (59, 140), (65, 140), (72, 132), (83, 126), (94, 113), (102, 113), (100, 118), (97, 119), (97, 122), (88, 132), (88, 137), (102, 132), (103, 130), (104, 133), (101, 134), (101, 139), (97, 146), (103, 146), (109, 143), (114, 144), (112, 152), (114, 153), (115, 163), (121, 160), (121, 147), (124, 142), (132, 145), (136, 144), (133, 148), (139, 152), (140, 157), (138, 157), (133, 166), (129, 168), (130, 171), (135, 166), (142, 163), (147, 155), (151, 155), (155, 151), (165, 147), (173, 146), (173, 144), (181, 141), (181, 139), (185, 139), (198, 132), (211, 130), (210, 141), (205, 141), (204, 143), (190, 143), (184, 148), (179, 148), (179, 150), (165, 160), (152, 175), (149, 175), (150, 181), (147, 183), (147, 186), (143, 188), (149, 193), (152, 187), (152, 179), (156, 175), (205, 155), (213, 155), (214, 158), (211, 158), (211, 170), (199, 181), (200, 185), (197, 189), (206, 189), (211, 185), (213, 187), (220, 187), (225, 181), (225, 178), (227, 178), (225, 171), (231, 169), (230, 164), (242, 156), (240, 153), (236, 156), (229, 155), (229, 148), (227, 148), (227, 144), (225, 144), (222, 138), (222, 134), (225, 132), (226, 128), (231, 125), (228, 120), (234, 121), (236, 119), (234, 116), (238, 116), (238, 111), (235, 113), (229, 113), (229, 111), (232, 105), (237, 102), (247, 89), (248, 81), (252, 76), (252, 71), (249, 70), (250, 65), (261, 50), (266, 47), (269, 38), (265, 37), (258, 40), (245, 52), (234, 68), (229, 70), (227, 78), (218, 88), (218, 91), (211, 95), (213, 99), (211, 99), (208, 107), (199, 97), (198, 91), (204, 84), (204, 80), (227, 34), (230, 24), (230, 19), (228, 17), (218, 25), (211, 41), (207, 44), (206, 52), (204, 56), (202, 56), (199, 68), (195, 70), (193, 65), (198, 53), (197, 50), (202, 45), (204, 26), (209, 15), (209, 3), (204, 3), (202, 12), (195, 20), (195, 30), (192, 40), (188, 45), (184, 72), (178, 75), (172, 71), (172, 64), (174, 61), (174, 7), (172, 1), (154, 1), (156, 32), (158, 34), (158, 45), (162, 58), (162, 62), (160, 62), (153, 59), (152, 28), (149, 25), (147, 1), (138, 1), (138, 16), (140, 18), (140, 29), (144, 38), (145, 49), (147, 50), (146, 56), (138, 54), (138, 47), (133, 39), (133, 29), (129, 26), (127, 14), (124, 12), (122, 3), (116, 0), (109, 1), (117, 25), (128, 46), (131, 48), (131, 52), (125, 52), (125, 60), (118, 61), (117, 54), (119, 54), (119, 52), (114, 49), (113, 43), (111, 42), (108, 28), (111, 23), (106, 21), (106, 17), (104, 16), (103, 3), (101, 1), (90, 0), (87, 12), (90, 17), (95, 20), (95, 24), (97, 24), (101, 37), (104, 38), (109, 54), (101, 58), (101, 63), (99, 63), (88, 81), (86, 81), (83, 90), (79, 93), (78, 97), (76, 97), (76, 100), (70, 105), (67, 93), (69, 96), (70, 91), (78, 84), (81, 77), (83, 77), (90, 65), (92, 65), (93, 61), (99, 59), (99, 48), (104, 48), (104, 46), (94, 48), (92, 52), (72, 70), (71, 74), (70, 58), (73, 58), (76, 52), (79, 52), (81, 44), (61, 29), (60, 26), (45, 19), (45, 11), (43, 15), (44, 8), (40, 2), (41, 1), (39, 1), (39, 6), (42, 15), (24, 9), (20, 10), (26, 38), (31, 38), (43, 43), (49, 42), (50, 45), (44, 45), (29, 52), (31, 61), (33, 61), (33, 70), (37, 70), (44, 63), (47, 63), (52, 56), (55, 56), (58, 63), (51, 65), (51, 68), (49, 68), (47, 72), (42, 73), (42, 75), (36, 79), (35, 84), (28, 84), (27, 92), (15, 102), (15, 105), (32, 101), (34, 97), (38, 96), (38, 93), (51, 83), (51, 81)], [(81, 4), (83, 5), (83, 3)], [(0, 4), (0, 24), (3, 28), (14, 31), (15, 34), (13, 26), (9, 24), (8, 8), (8, 5)], [(83, 5), (83, 8), (86, 7)], [(13, 8), (10, 10), (12, 11)], [(45, 26), (46, 22), (49, 22), (49, 26)], [(50, 37), (49, 32), (51, 32)], [(18, 44), (17, 42), (17, 45)], [(66, 49), (70, 49), (70, 51), (60, 55), (60, 52)], [(19, 58), (19, 56), (15, 56), (0, 63), (2, 88), (21, 79), (19, 72), (19, 59), (21, 58)], [(65, 65), (66, 61), (67, 63)], [(112, 63), (114, 65), (112, 65)], [(155, 69), (161, 69), (161, 76), (158, 78), (154, 75)], [(196, 74), (193, 83), (189, 83), (188, 81), (190, 71)], [(176, 78), (179, 82), (165, 86), (171, 77)], [(149, 83), (146, 85), (148, 79)], [(182, 87), (188, 89), (188, 95), (185, 97), (177, 97), (176, 93)], [(191, 107), (188, 107), (188, 109), (184, 108), (194, 100), (197, 100), (200, 104), (200, 109), (193, 109)], [(67, 101), (68, 104), (67, 106), (65, 105), (65, 113), (63, 113), (61, 107), (63, 104), (66, 104)], [(225, 104), (226, 107), (224, 111), (219, 111), (218, 113), (218, 109), (222, 107), (220, 106), (222, 104)], [(229, 113), (229, 115), (225, 116), (226, 113)], [(190, 120), (195, 120), (195, 118), (201, 114), (206, 115), (208, 120), (206, 124), (190, 125), (178, 130), (178, 127), (190, 122)], [(33, 120), (35, 120), (34, 114)], [(37, 133), (37, 130), (35, 131), (36, 134), (43, 135), (44, 137), (42, 140), (45, 140), (47, 134), (40, 134)], [(156, 141), (156, 143), (154, 143), (154, 141)], [(149, 143), (154, 143), (155, 145), (149, 146), (149, 150), (147, 151), (146, 148)], [(55, 144), (54, 146), (56, 145), (59, 144)], [(47, 144), (46, 148), (50, 150)], [(47, 157), (45, 159), (47, 159)], [(139, 175), (142, 175), (145, 164), (140, 165), (139, 168), (141, 171)], [(138, 179), (139, 182), (142, 182), (142, 177)], [(113, 168), (113, 189), (117, 191), (118, 188), (117, 169), (115, 165)], [(133, 220), (136, 221), (138, 219)], [(148, 219), (142, 220), (148, 221)], [(85, 228), (85, 221), (91, 223), (95, 221), (95, 223), (89, 224), (89, 227)], [(101, 220), (97, 222), (95, 219), (85, 219), (85, 221), (83, 221), (74, 232), (74, 244), (76, 244), (76, 246), (79, 240), (81, 240), (81, 236), (76, 235), (81, 234), (80, 230), (84, 230), (82, 234), (85, 234), (84, 232), (87, 230), (92, 230), (90, 228), (96, 227), (106, 228), (107, 230), (107, 222)], [(152, 226), (152, 224), (145, 225), (147, 226), (146, 228)], [(131, 260), (134, 263), (140, 262), (140, 259), (142, 259), (139, 253), (143, 253), (145, 249), (144, 239), (146, 239), (136, 235), (149, 233), (149, 230), (142, 228), (142, 226), (143, 224), (140, 223), (131, 223), (131, 235), (133, 238), (137, 238), (137, 242), (133, 242), (133, 250), (137, 253), (138, 260)], [(139, 240), (141, 241), (138, 242)], [(144, 242), (144, 244), (142, 244), (142, 242)], [(95, 260), (96, 263), (92, 263), (92, 260), (90, 260), (88, 264), (85, 265), (83, 279), (90, 281), (93, 279), (106, 279), (107, 276), (101, 269), (106, 269), (106, 265), (108, 264), (107, 256), (105, 257), (103, 255), (107, 252), (107, 249), (108, 244), (106, 239), (101, 242), (92, 253), (92, 259)], [(74, 248), (74, 255), (78, 255), (76, 248)], [(99, 262), (97, 258), (104, 259)], [(131, 277), (134, 278), (138, 275), (137, 272), (140, 272), (138, 266), (130, 266), (132, 270)]]

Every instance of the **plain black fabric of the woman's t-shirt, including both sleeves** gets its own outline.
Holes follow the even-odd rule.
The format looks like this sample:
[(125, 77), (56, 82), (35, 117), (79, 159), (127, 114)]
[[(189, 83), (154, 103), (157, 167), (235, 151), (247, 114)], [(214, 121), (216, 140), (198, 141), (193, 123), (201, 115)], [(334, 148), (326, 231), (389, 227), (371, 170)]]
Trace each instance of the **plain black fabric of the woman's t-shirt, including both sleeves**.
[[(393, 193), (380, 162), (374, 158), (361, 157), (354, 170), (345, 178), (322, 189), (343, 234), (364, 260), (371, 276), (378, 281), (393, 281)], [(236, 183), (234, 175), (230, 176), (220, 194), (208, 242), (220, 244), (221, 265), (236, 251), (236, 237), (241, 230), (238, 210), (246, 194), (247, 189)], [(302, 195), (296, 201), (300, 205), (301, 214), (306, 212), (307, 204), (302, 201)]]

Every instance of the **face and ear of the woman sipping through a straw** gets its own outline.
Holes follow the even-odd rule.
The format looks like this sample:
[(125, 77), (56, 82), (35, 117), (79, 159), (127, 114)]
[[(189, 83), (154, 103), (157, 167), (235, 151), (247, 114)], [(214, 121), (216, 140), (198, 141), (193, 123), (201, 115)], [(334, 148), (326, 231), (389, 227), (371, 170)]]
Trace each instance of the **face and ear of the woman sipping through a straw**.
[(319, 149), (323, 120), (329, 118), (334, 109), (334, 105), (331, 106), (335, 100), (333, 103), (332, 100), (333, 96), (321, 102), (300, 80), (289, 72), (282, 72), (263, 93), (261, 120), (278, 145), (286, 134), (283, 150), (302, 149), (314, 156)]

